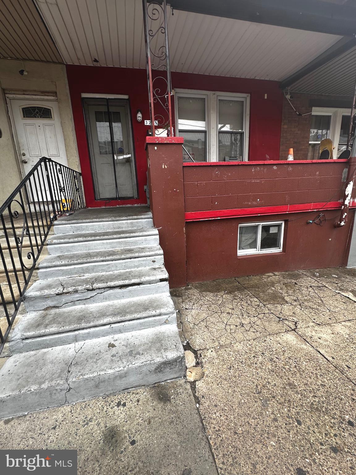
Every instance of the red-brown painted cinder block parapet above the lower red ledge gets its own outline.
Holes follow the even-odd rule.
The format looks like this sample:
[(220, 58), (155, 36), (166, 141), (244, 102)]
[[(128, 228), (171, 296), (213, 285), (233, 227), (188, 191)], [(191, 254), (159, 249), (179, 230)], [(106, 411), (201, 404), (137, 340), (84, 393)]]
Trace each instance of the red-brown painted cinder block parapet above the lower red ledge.
[(183, 166), (186, 212), (338, 201), (346, 161)]

